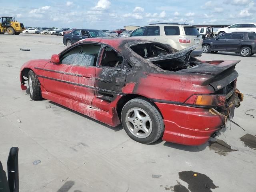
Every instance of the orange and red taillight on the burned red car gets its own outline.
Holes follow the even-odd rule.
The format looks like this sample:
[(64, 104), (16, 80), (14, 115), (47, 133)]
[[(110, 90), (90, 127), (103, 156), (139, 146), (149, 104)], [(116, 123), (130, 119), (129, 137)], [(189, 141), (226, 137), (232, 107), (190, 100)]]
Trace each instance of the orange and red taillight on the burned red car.
[(194, 105), (194, 106), (215, 106), (220, 107), (224, 106), (226, 97), (223, 95), (193, 95), (185, 104)]

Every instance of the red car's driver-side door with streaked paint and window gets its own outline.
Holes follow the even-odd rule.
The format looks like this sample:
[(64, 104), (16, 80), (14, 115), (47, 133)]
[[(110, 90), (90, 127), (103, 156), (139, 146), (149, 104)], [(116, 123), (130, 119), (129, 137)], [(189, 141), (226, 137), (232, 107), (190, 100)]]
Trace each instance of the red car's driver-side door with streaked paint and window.
[(91, 106), (100, 48), (100, 44), (78, 44), (62, 52), (59, 63), (47, 63), (44, 67), (46, 90)]

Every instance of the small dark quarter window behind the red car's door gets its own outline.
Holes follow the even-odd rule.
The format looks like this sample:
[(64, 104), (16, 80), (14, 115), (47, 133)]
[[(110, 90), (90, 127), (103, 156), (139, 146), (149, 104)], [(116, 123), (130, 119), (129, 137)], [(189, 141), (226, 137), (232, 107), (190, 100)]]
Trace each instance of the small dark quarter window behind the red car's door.
[(100, 66), (103, 67), (121, 67), (123, 57), (110, 47), (106, 47), (102, 54)]

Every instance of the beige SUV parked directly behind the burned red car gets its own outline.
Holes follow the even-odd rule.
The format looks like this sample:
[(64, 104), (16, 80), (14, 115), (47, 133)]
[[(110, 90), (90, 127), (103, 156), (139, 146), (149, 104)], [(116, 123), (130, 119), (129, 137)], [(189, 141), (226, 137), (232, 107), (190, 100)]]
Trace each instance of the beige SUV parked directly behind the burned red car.
[(202, 37), (195, 26), (180, 23), (156, 23), (140, 27), (129, 34), (146, 40), (168, 44), (177, 50), (182, 50), (198, 44), (191, 56), (202, 55)]

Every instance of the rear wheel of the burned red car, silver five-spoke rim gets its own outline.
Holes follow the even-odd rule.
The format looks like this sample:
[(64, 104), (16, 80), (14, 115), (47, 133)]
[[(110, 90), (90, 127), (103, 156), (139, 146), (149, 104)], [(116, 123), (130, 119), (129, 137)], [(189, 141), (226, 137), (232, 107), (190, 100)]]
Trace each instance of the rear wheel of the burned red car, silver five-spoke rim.
[(128, 136), (143, 144), (156, 142), (164, 132), (160, 112), (144, 98), (128, 101), (122, 109), (121, 121)]

